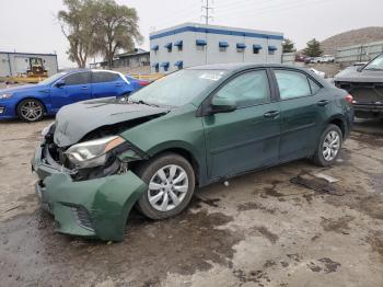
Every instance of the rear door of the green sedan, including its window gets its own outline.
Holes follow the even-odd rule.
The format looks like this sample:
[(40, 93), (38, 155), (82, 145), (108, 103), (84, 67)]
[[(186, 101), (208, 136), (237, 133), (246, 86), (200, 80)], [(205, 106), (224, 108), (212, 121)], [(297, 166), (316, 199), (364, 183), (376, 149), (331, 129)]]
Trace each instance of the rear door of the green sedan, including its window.
[(329, 117), (330, 96), (309, 74), (274, 69), (281, 108), (280, 161), (311, 156)]

